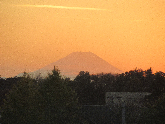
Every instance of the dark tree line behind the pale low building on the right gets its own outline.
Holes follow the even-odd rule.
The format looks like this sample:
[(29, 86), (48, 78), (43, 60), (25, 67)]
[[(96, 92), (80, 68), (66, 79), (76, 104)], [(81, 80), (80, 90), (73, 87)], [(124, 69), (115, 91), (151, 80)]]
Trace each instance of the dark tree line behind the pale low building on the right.
[[(152, 69), (135, 69), (122, 74), (96, 74), (81, 71), (70, 86), (76, 91), (81, 104), (105, 104), (106, 92), (150, 92), (157, 100), (165, 93), (165, 73)], [(149, 99), (149, 98), (148, 98)]]

